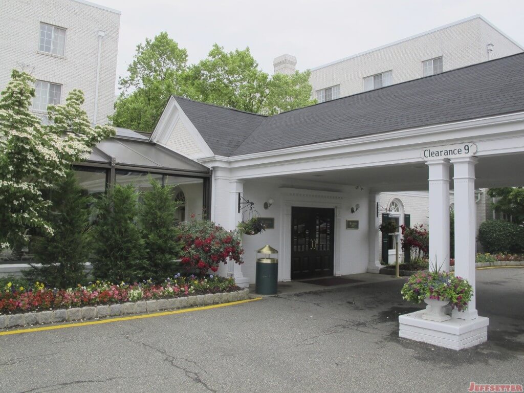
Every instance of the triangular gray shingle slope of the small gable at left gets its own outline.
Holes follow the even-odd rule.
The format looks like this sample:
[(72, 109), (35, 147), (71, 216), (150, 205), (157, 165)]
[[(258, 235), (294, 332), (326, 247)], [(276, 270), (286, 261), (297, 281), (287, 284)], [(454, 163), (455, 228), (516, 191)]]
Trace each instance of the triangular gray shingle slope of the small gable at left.
[(217, 156), (231, 156), (267, 117), (173, 96)]

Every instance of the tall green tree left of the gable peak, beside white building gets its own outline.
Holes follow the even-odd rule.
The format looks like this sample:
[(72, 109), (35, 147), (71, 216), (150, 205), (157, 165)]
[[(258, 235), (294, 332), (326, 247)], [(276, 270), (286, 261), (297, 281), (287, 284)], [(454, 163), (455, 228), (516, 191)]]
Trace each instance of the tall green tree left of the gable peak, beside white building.
[(188, 53), (162, 31), (136, 47), (128, 76), (118, 81), (121, 95), (110, 116), (115, 126), (151, 132), (171, 94), (179, 91), (179, 77)]

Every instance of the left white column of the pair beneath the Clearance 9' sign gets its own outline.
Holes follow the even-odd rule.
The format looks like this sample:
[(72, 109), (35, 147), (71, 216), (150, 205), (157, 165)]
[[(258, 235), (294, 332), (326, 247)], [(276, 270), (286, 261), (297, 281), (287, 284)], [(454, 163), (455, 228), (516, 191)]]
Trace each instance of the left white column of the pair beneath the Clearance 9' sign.
[[(426, 162), (429, 167), (430, 270), (450, 271), (450, 162)], [(455, 202), (456, 210), (456, 202)]]

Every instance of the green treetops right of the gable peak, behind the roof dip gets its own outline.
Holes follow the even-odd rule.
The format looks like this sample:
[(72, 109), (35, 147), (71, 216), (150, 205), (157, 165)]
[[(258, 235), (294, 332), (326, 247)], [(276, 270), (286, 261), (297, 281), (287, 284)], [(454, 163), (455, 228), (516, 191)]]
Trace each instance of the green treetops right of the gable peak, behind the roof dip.
[(315, 103), (309, 76), (309, 71), (297, 71), (271, 78), (249, 48), (226, 52), (215, 43), (208, 58), (183, 73), (181, 92), (196, 101), (273, 115)]

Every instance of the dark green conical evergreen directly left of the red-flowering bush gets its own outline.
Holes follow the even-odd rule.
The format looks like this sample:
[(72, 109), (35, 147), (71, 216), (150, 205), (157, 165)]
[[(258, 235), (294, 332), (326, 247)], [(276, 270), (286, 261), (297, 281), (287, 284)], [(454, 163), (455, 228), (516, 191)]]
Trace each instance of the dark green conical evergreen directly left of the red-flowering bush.
[(152, 189), (142, 195), (140, 226), (147, 250), (150, 278), (160, 282), (172, 276), (178, 264), (174, 261), (182, 248), (177, 240), (175, 214), (179, 203), (174, 201), (173, 186), (162, 187), (151, 179)]

